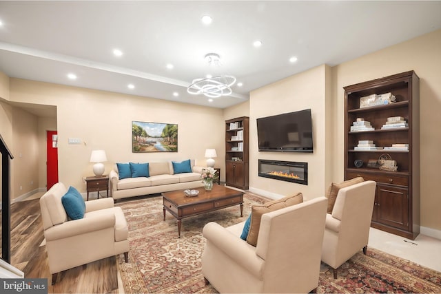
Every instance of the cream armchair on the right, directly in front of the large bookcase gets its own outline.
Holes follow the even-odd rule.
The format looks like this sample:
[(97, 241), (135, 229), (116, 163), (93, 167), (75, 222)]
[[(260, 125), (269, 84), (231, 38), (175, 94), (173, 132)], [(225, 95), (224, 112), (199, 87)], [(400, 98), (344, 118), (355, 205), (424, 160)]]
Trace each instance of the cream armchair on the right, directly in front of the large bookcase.
[(371, 180), (338, 191), (332, 213), (327, 213), (322, 262), (334, 270), (363, 249), (366, 254), (375, 199), (376, 182)]

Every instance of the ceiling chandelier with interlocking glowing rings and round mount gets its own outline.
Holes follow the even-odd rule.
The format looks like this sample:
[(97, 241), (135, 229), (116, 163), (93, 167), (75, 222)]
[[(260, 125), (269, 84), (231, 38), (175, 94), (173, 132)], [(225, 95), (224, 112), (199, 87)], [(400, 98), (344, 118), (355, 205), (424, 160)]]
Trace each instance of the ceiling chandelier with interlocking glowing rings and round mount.
[[(220, 57), (216, 53), (208, 53), (205, 59), (209, 64), (220, 65)], [(194, 95), (205, 95), (209, 98), (218, 98), (232, 94), (231, 86), (236, 83), (236, 77), (230, 74), (220, 74), (210, 78), (196, 78), (187, 87), (187, 92)]]

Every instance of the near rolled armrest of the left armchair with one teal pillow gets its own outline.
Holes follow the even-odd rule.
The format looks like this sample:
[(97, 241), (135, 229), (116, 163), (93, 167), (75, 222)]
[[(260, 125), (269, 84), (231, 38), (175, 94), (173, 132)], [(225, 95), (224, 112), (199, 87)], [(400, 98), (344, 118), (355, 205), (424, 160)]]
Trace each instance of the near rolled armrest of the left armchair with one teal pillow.
[(81, 235), (84, 233), (90, 233), (94, 231), (100, 231), (102, 229), (114, 228), (115, 226), (115, 213), (109, 211), (109, 213), (103, 213), (90, 218), (81, 218), (80, 220), (69, 220), (62, 224), (57, 224), (54, 227), (50, 227), (44, 231), (46, 241), (54, 241), (73, 237), (75, 235)]

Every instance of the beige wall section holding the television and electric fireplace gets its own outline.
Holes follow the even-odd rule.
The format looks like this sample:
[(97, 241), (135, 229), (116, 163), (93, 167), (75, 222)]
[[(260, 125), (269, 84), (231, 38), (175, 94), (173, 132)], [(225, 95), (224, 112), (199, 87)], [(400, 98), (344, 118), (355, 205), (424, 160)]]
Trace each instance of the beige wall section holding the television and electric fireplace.
[[(249, 186), (251, 191), (268, 196), (287, 196), (302, 192), (306, 199), (325, 195), (326, 130), (326, 65), (290, 76), (254, 90), (250, 95)], [(329, 77), (330, 78), (330, 77)], [(271, 105), (271, 107), (269, 107)], [(311, 108), (314, 153), (258, 151), (256, 119)], [(308, 163), (308, 185), (284, 182), (258, 176), (258, 159), (285, 160)]]

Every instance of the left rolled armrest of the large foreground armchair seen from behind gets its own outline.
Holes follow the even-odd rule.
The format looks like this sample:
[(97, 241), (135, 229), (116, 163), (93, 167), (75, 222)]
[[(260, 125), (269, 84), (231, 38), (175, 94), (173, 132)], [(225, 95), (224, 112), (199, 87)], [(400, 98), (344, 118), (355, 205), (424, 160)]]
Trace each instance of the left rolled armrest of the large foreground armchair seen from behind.
[(247, 269), (255, 277), (262, 277), (265, 261), (256, 255), (256, 247), (238, 238), (216, 222), (205, 224), (202, 234), (207, 242), (211, 242), (234, 262)]

